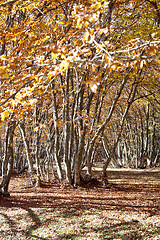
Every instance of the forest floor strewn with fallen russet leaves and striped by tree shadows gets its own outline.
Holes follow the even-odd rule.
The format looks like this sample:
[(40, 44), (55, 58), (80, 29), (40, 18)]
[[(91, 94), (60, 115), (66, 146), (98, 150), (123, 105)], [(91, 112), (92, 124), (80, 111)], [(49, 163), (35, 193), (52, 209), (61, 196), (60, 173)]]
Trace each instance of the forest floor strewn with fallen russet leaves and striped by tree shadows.
[(160, 171), (109, 170), (108, 179), (36, 189), (27, 174), (13, 176), (0, 196), (0, 239), (160, 239)]

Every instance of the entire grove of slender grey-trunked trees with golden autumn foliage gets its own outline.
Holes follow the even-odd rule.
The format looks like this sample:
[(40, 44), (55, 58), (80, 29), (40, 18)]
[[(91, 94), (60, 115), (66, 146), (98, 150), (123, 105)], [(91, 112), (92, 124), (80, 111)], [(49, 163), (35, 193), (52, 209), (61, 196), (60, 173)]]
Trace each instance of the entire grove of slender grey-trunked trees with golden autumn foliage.
[(51, 175), (160, 164), (160, 3), (0, 1), (0, 170)]

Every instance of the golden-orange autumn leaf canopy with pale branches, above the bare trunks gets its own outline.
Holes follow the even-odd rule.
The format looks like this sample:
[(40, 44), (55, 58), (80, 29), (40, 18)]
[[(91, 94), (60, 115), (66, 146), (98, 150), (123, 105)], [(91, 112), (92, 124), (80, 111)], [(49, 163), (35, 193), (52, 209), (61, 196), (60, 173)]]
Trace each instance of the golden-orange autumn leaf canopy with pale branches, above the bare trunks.
[(158, 1), (1, 2), (2, 121), (12, 112), (29, 114), (68, 67), (89, 69), (85, 84), (94, 92), (102, 70), (154, 68), (158, 78)]

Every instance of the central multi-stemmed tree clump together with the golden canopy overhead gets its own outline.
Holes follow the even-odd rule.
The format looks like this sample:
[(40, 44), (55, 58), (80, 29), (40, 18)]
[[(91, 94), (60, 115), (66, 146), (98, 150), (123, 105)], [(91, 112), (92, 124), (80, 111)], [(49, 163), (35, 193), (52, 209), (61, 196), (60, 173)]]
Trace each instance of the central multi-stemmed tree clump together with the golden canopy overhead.
[(22, 133), (36, 112), (37, 176), (43, 133), (58, 178), (63, 159), (67, 181), (80, 185), (84, 166), (92, 175), (95, 144), (119, 104), (126, 111), (111, 156), (134, 98), (159, 96), (159, 3), (17, 0), (0, 8), (1, 121), (14, 112)]

